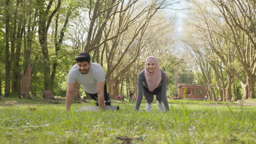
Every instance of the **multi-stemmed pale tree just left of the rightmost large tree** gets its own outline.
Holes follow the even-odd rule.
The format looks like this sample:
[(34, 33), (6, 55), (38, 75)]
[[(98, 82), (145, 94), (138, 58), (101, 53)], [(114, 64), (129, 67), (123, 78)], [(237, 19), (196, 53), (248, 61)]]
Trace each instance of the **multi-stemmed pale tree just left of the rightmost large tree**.
[[(231, 1), (226, 1), (225, 4), (222, 2), (212, 1), (212, 4), (207, 2), (206, 3), (200, 2), (200, 4), (197, 4), (195, 2), (194, 4), (198, 8), (196, 11), (195, 17), (197, 18), (196, 20), (200, 20), (201, 23), (197, 22), (197, 24), (194, 25), (194, 27), (199, 29), (199, 32), (201, 32), (201, 35), (203, 35), (203, 38), (201, 39), (202, 40), (201, 47), (205, 47), (206, 50), (212, 51), (213, 53), (211, 53), (211, 56), (215, 55), (215, 57), (218, 57), (217, 59), (216, 58), (208, 59), (208, 61), (211, 62), (212, 68), (215, 71), (214, 73), (216, 76), (216, 86), (219, 91), (220, 98), (223, 97), (224, 98), (223, 100), (230, 100), (231, 99), (231, 83), (234, 76), (236, 77), (236, 79), (240, 80), (242, 83), (245, 83), (245, 81), (240, 76), (241, 71), (238, 69), (237, 65), (234, 63), (235, 60), (237, 59), (238, 62), (240, 62), (241, 65), (243, 65), (243, 68), (246, 69), (245, 65), (243, 64), (245, 62), (242, 62), (241, 60), (246, 58), (242, 58), (244, 56), (241, 56), (240, 55), (241, 52), (239, 52), (242, 50), (241, 46), (245, 44), (243, 43), (244, 40), (241, 37), (241, 33), (243, 32), (240, 31), (239, 28), (232, 28), (230, 27), (231, 25), (229, 25), (229, 22), (232, 21), (231, 20), (232, 14), (230, 13), (229, 16), (225, 16), (227, 13), (224, 9), (229, 8), (228, 5), (225, 5), (225, 4), (226, 3), (231, 4)], [(216, 7), (217, 3), (219, 5)], [(225, 8), (220, 8), (222, 7), (220, 5), (222, 5), (223, 7), (225, 5)], [(232, 7), (231, 8), (232, 10), (235, 10), (234, 5), (235, 5), (234, 3), (230, 5), (230, 7)], [(251, 6), (248, 6), (248, 7), (251, 7)], [(216, 8), (218, 8), (219, 12), (218, 10), (216, 10)], [(235, 13), (235, 11), (233, 12)], [(236, 11), (236, 14), (240, 12), (241, 11)], [(243, 13), (245, 13), (245, 11), (243, 11)], [(254, 12), (252, 11), (252, 13)], [(242, 19), (242, 18), (236, 17), (236, 20), (239, 20), (239, 19)], [(234, 23), (232, 24), (232, 26), (235, 26)], [(234, 33), (234, 29), (236, 29), (236, 33)], [(237, 45), (238, 43), (240, 46)], [(237, 47), (240, 47), (240, 48), (237, 48)], [(252, 51), (251, 48), (247, 49), (247, 51), (249, 51), (248, 55), (252, 54), (251, 56), (248, 56), (248, 57), (251, 58), (251, 60), (249, 60), (250, 61), (249, 63), (252, 62), (251, 64), (253, 64), (254, 63), (253, 59), (255, 59), (253, 53), (255, 53), (255, 51)], [(205, 55), (204, 57), (206, 58), (208, 56)], [(212, 61), (213, 59), (216, 59), (216, 60)], [(224, 69), (225, 71), (223, 71), (222, 69)], [(225, 77), (223, 77), (223, 74), (225, 74)], [(224, 82), (223, 80), (225, 80), (226, 82)], [(247, 90), (245, 89), (245, 92), (246, 91)]]

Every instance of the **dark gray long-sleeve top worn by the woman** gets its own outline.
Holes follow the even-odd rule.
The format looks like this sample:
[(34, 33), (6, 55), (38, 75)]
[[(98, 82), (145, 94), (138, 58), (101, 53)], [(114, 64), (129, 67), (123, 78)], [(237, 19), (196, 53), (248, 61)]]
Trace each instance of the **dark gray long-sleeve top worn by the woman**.
[[(144, 71), (142, 70), (139, 74), (138, 74), (138, 95), (137, 95), (137, 101), (136, 101), (136, 106), (135, 109), (139, 110), (139, 106), (141, 105), (141, 101), (142, 101), (142, 91), (143, 91), (143, 83), (144, 83), (144, 87), (148, 88), (148, 84), (144, 75)], [(162, 98), (162, 102), (165, 105), (165, 109), (168, 111), (169, 110), (169, 106), (168, 106), (168, 101), (166, 98), (166, 74), (164, 71), (161, 70), (161, 75), (162, 75), (162, 80), (161, 80), (161, 98)]]

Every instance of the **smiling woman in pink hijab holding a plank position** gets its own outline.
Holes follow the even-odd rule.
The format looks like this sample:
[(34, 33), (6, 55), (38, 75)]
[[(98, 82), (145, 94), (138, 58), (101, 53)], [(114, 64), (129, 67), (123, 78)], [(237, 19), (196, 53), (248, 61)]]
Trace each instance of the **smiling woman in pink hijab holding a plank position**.
[(166, 98), (166, 74), (159, 68), (158, 59), (154, 56), (147, 57), (145, 69), (138, 74), (138, 97), (135, 107), (137, 111), (141, 105), (142, 92), (147, 102), (146, 111), (152, 108), (153, 95), (156, 95), (161, 111), (169, 110)]

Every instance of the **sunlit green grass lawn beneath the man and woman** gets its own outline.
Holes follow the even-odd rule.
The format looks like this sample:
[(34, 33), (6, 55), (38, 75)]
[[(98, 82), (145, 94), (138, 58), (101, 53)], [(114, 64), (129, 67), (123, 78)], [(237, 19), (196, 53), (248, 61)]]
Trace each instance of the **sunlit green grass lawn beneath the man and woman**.
[(170, 100), (162, 113), (156, 101), (152, 112), (137, 112), (127, 101), (114, 104), (117, 111), (75, 112), (92, 105), (72, 103), (65, 112), (65, 101), (3, 99), (0, 143), (256, 143), (255, 106)]

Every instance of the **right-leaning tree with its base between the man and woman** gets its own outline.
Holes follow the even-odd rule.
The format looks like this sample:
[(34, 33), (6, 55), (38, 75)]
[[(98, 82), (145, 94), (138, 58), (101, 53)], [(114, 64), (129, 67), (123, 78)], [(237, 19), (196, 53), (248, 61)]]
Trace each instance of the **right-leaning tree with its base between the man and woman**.
[[(122, 80), (121, 77), (127, 73), (127, 70), (132, 68), (131, 65), (135, 64), (138, 57), (143, 57), (143, 51), (147, 50), (151, 52), (151, 50), (155, 49), (154, 44), (157, 43), (159, 40), (158, 38), (162, 38), (162, 32), (164, 32), (167, 29), (166, 27), (169, 26), (165, 25), (166, 23), (163, 25), (155, 23), (155, 20), (157, 19), (155, 17), (157, 15), (156, 12), (161, 9), (162, 4), (163, 1), (160, 1), (159, 3), (158, 1), (154, 1), (152, 3), (152, 5), (154, 5), (153, 8), (146, 7), (142, 11), (137, 9), (139, 11), (133, 12), (137, 14), (135, 16), (132, 16), (132, 13), (127, 13), (127, 15), (120, 13), (118, 22), (113, 22), (118, 25), (117, 29), (112, 28), (117, 37), (111, 41), (107, 41), (104, 45), (106, 49), (103, 48), (106, 50), (108, 69), (106, 78), (111, 82), (109, 83), (110, 94), (117, 95), (119, 93), (118, 87)], [(135, 7), (135, 5), (133, 7)], [(134, 11), (133, 7), (131, 7), (129, 11)], [(132, 17), (132, 19), (130, 17)], [(115, 26), (110, 25), (110, 27)], [(123, 34), (118, 35), (123, 29), (135, 30), (125, 31)], [(112, 45), (112, 47), (109, 45)], [(161, 50), (162, 49), (159, 48), (159, 51)], [(144, 61), (144, 59), (142, 61)], [(137, 78), (133, 77), (134, 81), (136, 79)]]

